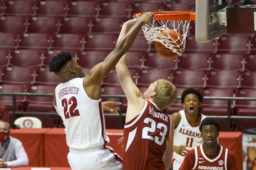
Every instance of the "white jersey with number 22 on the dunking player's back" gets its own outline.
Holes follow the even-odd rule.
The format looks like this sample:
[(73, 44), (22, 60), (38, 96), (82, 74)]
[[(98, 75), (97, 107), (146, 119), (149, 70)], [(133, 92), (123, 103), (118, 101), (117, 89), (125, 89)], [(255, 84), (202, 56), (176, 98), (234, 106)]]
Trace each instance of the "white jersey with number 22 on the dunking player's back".
[(83, 88), (83, 78), (73, 78), (57, 85), (55, 98), (55, 109), (65, 125), (69, 148), (90, 150), (109, 143), (101, 99), (88, 97)]

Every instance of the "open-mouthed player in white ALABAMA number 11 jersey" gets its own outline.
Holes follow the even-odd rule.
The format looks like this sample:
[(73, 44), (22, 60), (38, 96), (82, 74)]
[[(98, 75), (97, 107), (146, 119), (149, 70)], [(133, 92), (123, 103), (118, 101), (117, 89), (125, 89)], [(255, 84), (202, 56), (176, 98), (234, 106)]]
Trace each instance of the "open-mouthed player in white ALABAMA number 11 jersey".
[(201, 121), (206, 117), (199, 113), (202, 95), (194, 88), (182, 92), (181, 100), (184, 110), (171, 115), (174, 123), (173, 170), (178, 170), (185, 154), (195, 146), (201, 145), (203, 139), (199, 130)]

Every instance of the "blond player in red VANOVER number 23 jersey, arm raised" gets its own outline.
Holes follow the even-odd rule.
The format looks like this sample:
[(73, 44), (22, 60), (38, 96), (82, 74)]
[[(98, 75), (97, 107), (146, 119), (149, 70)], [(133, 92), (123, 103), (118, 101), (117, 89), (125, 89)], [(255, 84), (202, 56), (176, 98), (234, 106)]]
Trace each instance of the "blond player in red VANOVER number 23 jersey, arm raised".
[[(135, 20), (126, 23), (129, 22)], [(121, 30), (119, 39), (127, 30)], [(142, 94), (131, 79), (125, 60), (126, 54), (116, 65), (121, 87), (128, 100), (123, 139), (123, 170), (168, 170), (173, 152), (174, 127), (163, 110), (175, 101), (176, 87), (168, 80), (159, 79), (152, 82)]]

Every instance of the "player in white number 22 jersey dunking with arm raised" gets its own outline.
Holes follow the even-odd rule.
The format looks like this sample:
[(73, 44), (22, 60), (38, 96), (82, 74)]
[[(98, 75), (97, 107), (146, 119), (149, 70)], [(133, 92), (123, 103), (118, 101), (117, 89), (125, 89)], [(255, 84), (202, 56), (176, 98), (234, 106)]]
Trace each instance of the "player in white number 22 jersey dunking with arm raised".
[(52, 58), (49, 71), (61, 78), (54, 90), (53, 104), (61, 116), (69, 146), (67, 159), (72, 170), (121, 170), (121, 158), (105, 144), (104, 115), (101, 103), (101, 82), (133, 44), (140, 28), (154, 16), (152, 12), (137, 15), (136, 22), (123, 24), (129, 29), (116, 48), (103, 62), (93, 66), (84, 76), (69, 52)]

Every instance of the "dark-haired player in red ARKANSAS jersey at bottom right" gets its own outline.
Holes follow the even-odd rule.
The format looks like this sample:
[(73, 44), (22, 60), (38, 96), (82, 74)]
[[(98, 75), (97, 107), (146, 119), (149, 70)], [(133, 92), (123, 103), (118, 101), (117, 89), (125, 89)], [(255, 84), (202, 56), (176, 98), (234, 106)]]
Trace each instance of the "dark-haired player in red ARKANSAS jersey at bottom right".
[(232, 151), (218, 144), (220, 124), (206, 117), (200, 124), (204, 143), (190, 150), (179, 170), (238, 170)]

